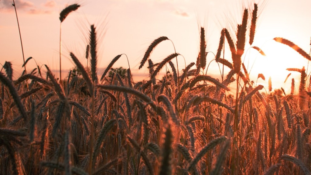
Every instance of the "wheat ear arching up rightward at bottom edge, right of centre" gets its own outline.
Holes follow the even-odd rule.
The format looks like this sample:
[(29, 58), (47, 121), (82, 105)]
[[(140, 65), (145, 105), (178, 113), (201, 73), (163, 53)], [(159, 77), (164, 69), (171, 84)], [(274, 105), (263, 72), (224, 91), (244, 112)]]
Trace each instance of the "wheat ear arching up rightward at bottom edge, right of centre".
[(211, 140), (207, 145), (205, 145), (200, 150), (200, 152), (196, 155), (193, 161), (189, 163), (188, 171), (191, 171), (195, 167), (195, 165), (201, 160), (203, 155), (206, 154), (208, 150), (213, 149), (215, 146), (224, 142), (225, 140), (227, 140), (227, 137), (220, 136), (220, 137), (215, 138), (214, 140)]

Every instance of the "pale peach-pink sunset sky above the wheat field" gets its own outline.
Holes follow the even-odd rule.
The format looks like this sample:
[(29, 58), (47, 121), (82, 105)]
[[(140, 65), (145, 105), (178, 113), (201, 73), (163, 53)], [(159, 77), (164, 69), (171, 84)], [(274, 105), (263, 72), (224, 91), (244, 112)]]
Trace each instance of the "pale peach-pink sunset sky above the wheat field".
[[(59, 69), (59, 13), (73, 3), (81, 5), (70, 13), (62, 23), (62, 69), (67, 76), (74, 64), (69, 56), (73, 52), (86, 66), (86, 45), (90, 25), (94, 24), (98, 36), (98, 76), (118, 54), (121, 58), (114, 67), (128, 68), (127, 58), (134, 79), (147, 79), (147, 64), (138, 69), (139, 63), (153, 40), (167, 36), (171, 41), (161, 42), (152, 52), (150, 59), (158, 63), (176, 52), (179, 70), (191, 62), (196, 62), (200, 48), (200, 28), (205, 28), (207, 75), (219, 78), (220, 69), (214, 59), (220, 31), (227, 28), (234, 36), (237, 24), (242, 21), (244, 8), (252, 12), (253, 3), (258, 3), (258, 22), (252, 46), (258, 46), (266, 56), (260, 55), (250, 45), (245, 45), (242, 61), (256, 83), (258, 73), (263, 73), (266, 81), (257, 84), (267, 87), (271, 76), (272, 87), (283, 87), (290, 92), (290, 80), (284, 83), (286, 76), (295, 78), (296, 89), (300, 81), (299, 73), (289, 72), (286, 68), (307, 69), (308, 60), (286, 45), (273, 40), (283, 37), (310, 52), (311, 1), (292, 0), (15, 0), (20, 23), (25, 59), (33, 57), (27, 63), (27, 69), (36, 68), (36, 64), (47, 64), (58, 76)], [(10, 61), (14, 76), (23, 70), (20, 36), (16, 15), (11, 0), (0, 0), (0, 63)], [(247, 39), (249, 37), (247, 36)], [(174, 45), (172, 44), (174, 43)], [(223, 57), (223, 55), (221, 56)], [(230, 49), (225, 46), (225, 59), (232, 61)], [(176, 65), (176, 61), (174, 60)], [(204, 73), (206, 69), (204, 70)], [(309, 67), (307, 75), (311, 72)], [(225, 73), (226, 75), (226, 73)], [(160, 78), (160, 75), (159, 75)], [(308, 83), (308, 82), (307, 82)]]

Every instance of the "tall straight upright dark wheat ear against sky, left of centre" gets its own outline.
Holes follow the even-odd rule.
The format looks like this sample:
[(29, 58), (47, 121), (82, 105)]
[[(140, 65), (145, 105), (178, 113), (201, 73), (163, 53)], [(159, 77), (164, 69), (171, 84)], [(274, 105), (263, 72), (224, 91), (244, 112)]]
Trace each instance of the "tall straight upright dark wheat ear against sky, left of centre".
[(90, 52), (91, 52), (91, 72), (92, 80), (95, 82), (97, 79), (97, 39), (96, 39), (96, 28), (91, 25), (90, 31)]

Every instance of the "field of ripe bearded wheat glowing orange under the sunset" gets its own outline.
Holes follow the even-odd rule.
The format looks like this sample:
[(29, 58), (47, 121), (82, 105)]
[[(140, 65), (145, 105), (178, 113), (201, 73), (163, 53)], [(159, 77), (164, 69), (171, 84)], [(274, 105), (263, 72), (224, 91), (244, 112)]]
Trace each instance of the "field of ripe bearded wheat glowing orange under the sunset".
[[(78, 7), (65, 8), (61, 22)], [(139, 66), (149, 70), (150, 78), (140, 82), (133, 81), (130, 68), (124, 74), (111, 71), (123, 54), (98, 74), (94, 25), (86, 49), (90, 71), (70, 53), (76, 72), (66, 79), (58, 81), (47, 65), (26, 73), (29, 58), (13, 80), (12, 64), (5, 62), (0, 73), (0, 174), (309, 175), (310, 77), (303, 65), (289, 68), (301, 73), (299, 85), (292, 80), (291, 94), (284, 89), (273, 93), (271, 79), (269, 92), (254, 85), (241, 56), (246, 42), (253, 44), (257, 11), (257, 4), (245, 9), (236, 33), (224, 28), (214, 41), (219, 43), (215, 61), (230, 69), (222, 81), (203, 71), (203, 27), (198, 56), (185, 68), (174, 65), (180, 56), (176, 52), (153, 63), (152, 50), (169, 40), (155, 39)], [(311, 60), (291, 41), (274, 40)], [(223, 58), (225, 44), (230, 59)], [(160, 78), (165, 66), (170, 73)], [(265, 79), (262, 74), (258, 78)], [(234, 94), (228, 93), (229, 85)]]

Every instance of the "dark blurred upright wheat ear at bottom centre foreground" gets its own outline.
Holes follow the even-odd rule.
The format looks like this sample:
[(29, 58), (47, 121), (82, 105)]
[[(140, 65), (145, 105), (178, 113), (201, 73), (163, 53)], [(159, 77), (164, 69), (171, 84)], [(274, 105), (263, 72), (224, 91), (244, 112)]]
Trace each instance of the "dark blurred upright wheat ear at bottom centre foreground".
[(162, 146), (161, 166), (159, 175), (170, 175), (172, 174), (170, 154), (172, 153), (173, 143), (173, 133), (170, 128), (170, 124), (167, 125), (164, 135), (162, 135), (162, 139), (164, 140), (164, 143)]

